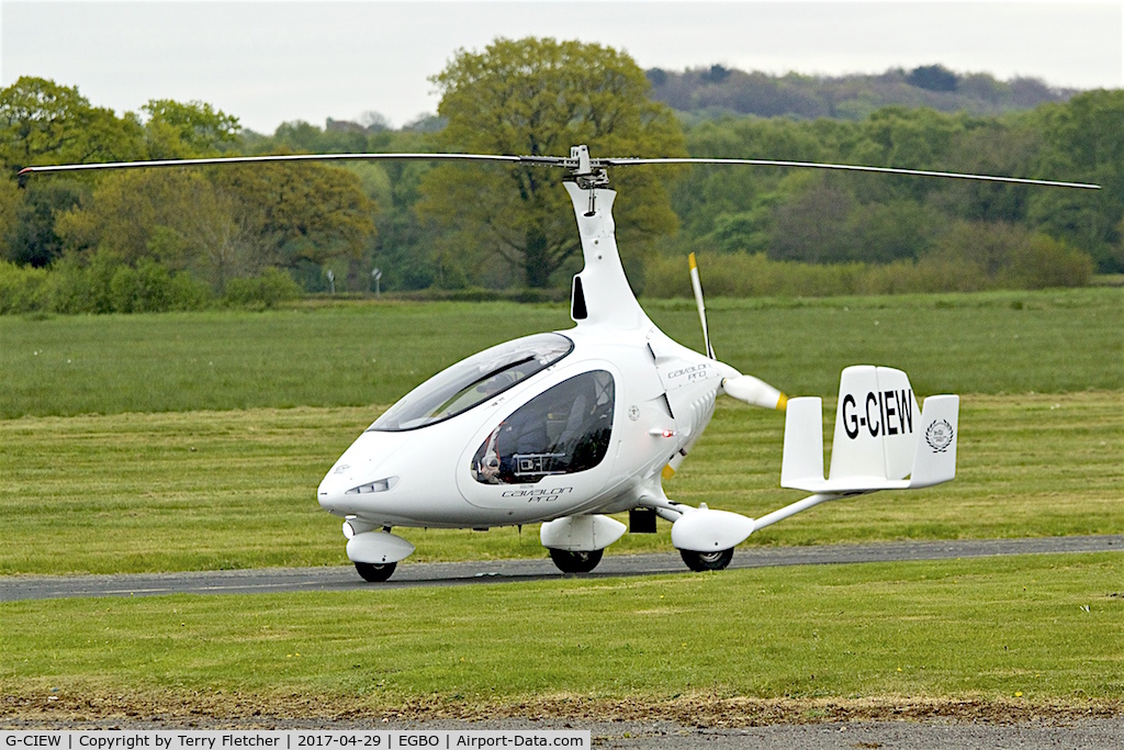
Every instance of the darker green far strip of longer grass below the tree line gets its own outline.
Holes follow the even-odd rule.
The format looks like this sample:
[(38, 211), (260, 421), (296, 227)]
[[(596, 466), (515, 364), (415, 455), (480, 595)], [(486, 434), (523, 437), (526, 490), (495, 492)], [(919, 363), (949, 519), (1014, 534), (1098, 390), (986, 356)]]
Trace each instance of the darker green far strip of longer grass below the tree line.
[[(692, 302), (647, 304), (701, 345)], [(1124, 290), (708, 300), (723, 361), (792, 395), (834, 397), (863, 362), (917, 392), (1124, 389)], [(266, 313), (0, 317), (0, 418), (389, 405), (442, 368), (568, 328), (564, 306), (380, 302)]]

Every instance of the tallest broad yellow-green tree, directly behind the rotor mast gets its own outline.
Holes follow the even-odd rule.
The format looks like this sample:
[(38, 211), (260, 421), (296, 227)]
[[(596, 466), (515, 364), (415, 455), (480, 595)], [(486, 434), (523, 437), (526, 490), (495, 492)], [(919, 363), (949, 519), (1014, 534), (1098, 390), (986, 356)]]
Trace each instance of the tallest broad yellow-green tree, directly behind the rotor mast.
[[(460, 51), (432, 81), (442, 94), (438, 115), (447, 120), (437, 136), (445, 150), (568, 155), (570, 146), (587, 144), (595, 156), (686, 155), (671, 110), (647, 99), (644, 72), (609, 47), (500, 38), (482, 53)], [(636, 260), (631, 242), (677, 227), (663, 182), (677, 172), (614, 173), (626, 264)], [(558, 175), (543, 169), (451, 164), (432, 170), (422, 189), (422, 210), (459, 229), (459, 254), (483, 245), (528, 287), (549, 286), (580, 247), (569, 198)]]

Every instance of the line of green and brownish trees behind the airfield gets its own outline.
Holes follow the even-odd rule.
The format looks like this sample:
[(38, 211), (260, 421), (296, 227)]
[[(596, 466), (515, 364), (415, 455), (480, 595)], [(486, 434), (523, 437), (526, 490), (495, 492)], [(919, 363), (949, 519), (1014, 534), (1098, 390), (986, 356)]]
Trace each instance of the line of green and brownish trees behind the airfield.
[[(565, 288), (580, 269), (564, 191), (534, 168), (226, 165), (35, 175), (22, 187), (15, 178), (29, 164), (262, 153), (563, 155), (586, 143), (595, 155), (843, 162), (1105, 187), (722, 166), (618, 171), (624, 261), (637, 287), (652, 282), (651, 293), (670, 293), (663, 259), (688, 251), (743, 265), (756, 257), (753, 268), (897, 264), (942, 289), (1064, 286), (1094, 270), (1124, 272), (1122, 91), (1003, 115), (895, 106), (858, 120), (691, 118), (653, 98), (652, 78), (609, 47), (497, 39), (461, 51), (432, 79), (442, 94), (436, 117), (398, 130), (373, 114), (325, 128), (287, 123), (272, 135), (244, 130), (203, 102), (152, 100), (117, 116), (74, 87), (20, 79), (0, 91), (0, 311), (268, 305), (330, 286), (369, 291), (375, 269), (383, 290)], [(708, 280), (737, 264), (716, 266)]]

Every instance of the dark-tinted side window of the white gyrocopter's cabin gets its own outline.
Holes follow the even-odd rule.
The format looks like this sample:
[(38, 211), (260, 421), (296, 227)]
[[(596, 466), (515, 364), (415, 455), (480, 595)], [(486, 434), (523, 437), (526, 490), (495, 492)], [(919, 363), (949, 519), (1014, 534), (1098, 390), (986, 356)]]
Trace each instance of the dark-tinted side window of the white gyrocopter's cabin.
[(595, 370), (564, 380), (515, 410), (472, 458), (483, 485), (523, 485), (598, 466), (613, 434), (613, 376)]

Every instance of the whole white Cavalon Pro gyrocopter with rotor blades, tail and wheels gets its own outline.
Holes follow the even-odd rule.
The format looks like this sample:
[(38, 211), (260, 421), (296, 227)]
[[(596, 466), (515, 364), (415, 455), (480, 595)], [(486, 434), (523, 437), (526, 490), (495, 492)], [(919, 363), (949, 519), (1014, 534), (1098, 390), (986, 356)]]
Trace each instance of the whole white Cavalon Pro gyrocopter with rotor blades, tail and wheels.
[[(490, 154), (296, 154), (31, 166), (35, 172), (290, 161), (498, 161), (565, 170), (584, 268), (573, 278), (572, 328), (516, 338), (453, 364), (404, 396), (361, 434), (317, 489), (344, 518), (347, 557), (384, 581), (414, 545), (392, 528), (490, 528), (540, 523), (563, 572), (589, 572), (626, 531), (671, 541), (691, 570), (720, 570), (754, 531), (821, 503), (915, 489), (955, 476), (959, 397), (918, 407), (905, 372), (858, 365), (840, 378), (831, 464), (824, 476), (822, 403), (779, 390), (715, 356), (694, 256), (690, 280), (705, 353), (649, 319), (625, 278), (614, 236), (609, 168), (751, 164), (916, 174), (1070, 188), (994, 175), (769, 160), (591, 159)], [(810, 495), (760, 518), (669, 499), (663, 479), (701, 437), (722, 396), (786, 410), (781, 487)], [(628, 525), (610, 517), (628, 514)]]

